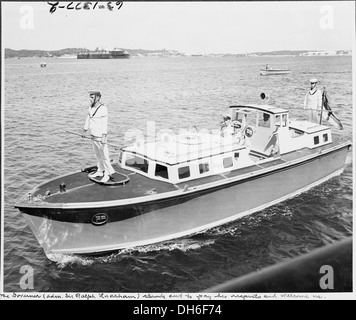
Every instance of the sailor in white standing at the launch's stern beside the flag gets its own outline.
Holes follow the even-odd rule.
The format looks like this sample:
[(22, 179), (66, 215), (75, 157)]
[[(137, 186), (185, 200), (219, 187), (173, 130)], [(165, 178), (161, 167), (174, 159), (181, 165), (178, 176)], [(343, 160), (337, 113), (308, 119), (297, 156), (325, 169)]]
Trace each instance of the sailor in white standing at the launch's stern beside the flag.
[(317, 89), (318, 80), (310, 79), (310, 89), (305, 95), (303, 109), (307, 110), (308, 120), (314, 123), (320, 123), (320, 114), (322, 108), (322, 93)]

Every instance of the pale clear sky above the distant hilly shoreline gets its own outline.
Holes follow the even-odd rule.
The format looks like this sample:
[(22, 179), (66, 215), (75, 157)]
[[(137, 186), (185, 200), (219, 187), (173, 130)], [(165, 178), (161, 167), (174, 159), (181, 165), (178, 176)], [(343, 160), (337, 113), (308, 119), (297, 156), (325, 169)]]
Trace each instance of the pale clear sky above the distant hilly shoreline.
[(59, 5), (65, 8), (50, 13), (48, 2), (2, 2), (2, 46), (237, 54), (351, 50), (354, 45), (354, 1), (117, 3), (99, 2), (84, 10), (84, 2), (73, 2), (78, 10), (70, 10), (70, 2), (63, 1)]

